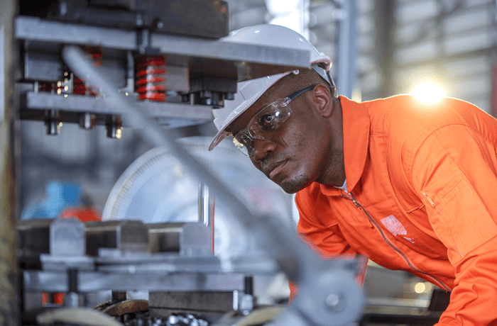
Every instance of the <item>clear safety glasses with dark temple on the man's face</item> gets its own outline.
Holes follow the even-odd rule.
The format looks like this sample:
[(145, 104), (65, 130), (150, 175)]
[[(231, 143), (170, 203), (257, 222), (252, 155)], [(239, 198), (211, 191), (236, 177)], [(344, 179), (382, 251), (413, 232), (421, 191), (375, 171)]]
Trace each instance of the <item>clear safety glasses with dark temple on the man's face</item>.
[(285, 99), (279, 99), (268, 106), (264, 106), (261, 111), (258, 111), (258, 113), (251, 118), (246, 128), (234, 135), (233, 142), (236, 148), (246, 156), (253, 157), (255, 152), (253, 149), (253, 140), (271, 139), (278, 127), (292, 114), (292, 109), (288, 104), (305, 91), (314, 89), (315, 86), (316, 85), (300, 89), (300, 91), (295, 91), (295, 93), (290, 94), (285, 97)]

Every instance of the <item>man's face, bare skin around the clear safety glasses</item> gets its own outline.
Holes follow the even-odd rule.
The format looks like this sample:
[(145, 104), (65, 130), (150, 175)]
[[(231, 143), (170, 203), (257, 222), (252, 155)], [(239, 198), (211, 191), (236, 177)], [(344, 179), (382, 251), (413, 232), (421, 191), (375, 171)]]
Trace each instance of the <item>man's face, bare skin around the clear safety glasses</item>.
[[(311, 86), (311, 85), (308, 85)], [(229, 126), (233, 135), (246, 128), (262, 108), (297, 91), (290, 84), (276, 84)], [(295, 193), (320, 181), (331, 156), (331, 135), (326, 118), (313, 107), (314, 89), (290, 102), (291, 116), (266, 140), (254, 139), (251, 161), (284, 191)]]

